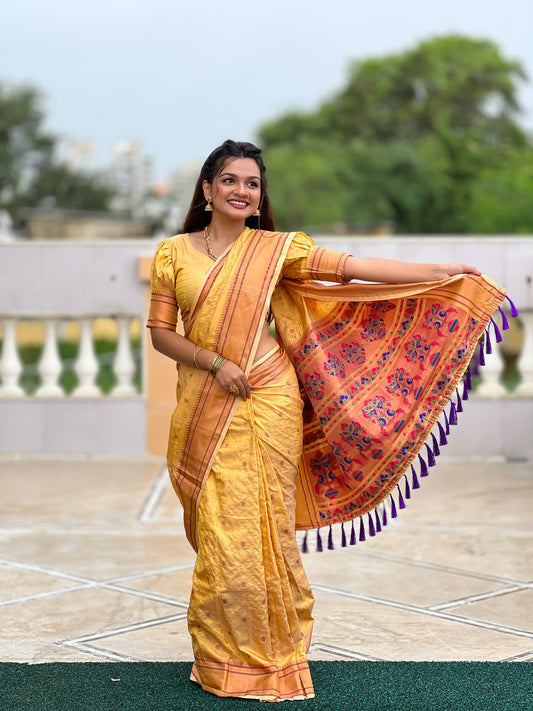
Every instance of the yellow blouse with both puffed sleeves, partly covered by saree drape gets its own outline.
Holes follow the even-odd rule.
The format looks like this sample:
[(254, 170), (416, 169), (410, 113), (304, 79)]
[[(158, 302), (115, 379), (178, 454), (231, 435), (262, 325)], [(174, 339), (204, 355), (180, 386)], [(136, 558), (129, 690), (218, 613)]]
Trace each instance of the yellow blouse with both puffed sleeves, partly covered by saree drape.
[[(311, 237), (297, 232), (280, 278), (343, 282), (345, 261), (345, 255), (317, 247)], [(212, 266), (213, 261), (192, 245), (188, 234), (163, 240), (152, 262), (148, 328), (175, 330), (178, 308), (182, 319), (187, 321), (196, 295)]]

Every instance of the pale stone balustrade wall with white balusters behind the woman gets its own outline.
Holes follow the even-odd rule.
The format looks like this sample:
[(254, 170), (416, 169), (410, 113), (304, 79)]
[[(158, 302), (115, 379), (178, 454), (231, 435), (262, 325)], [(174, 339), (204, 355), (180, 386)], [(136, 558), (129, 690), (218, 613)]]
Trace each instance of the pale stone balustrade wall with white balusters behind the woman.
[[(457, 456), (483, 456), (485, 452), (533, 458), (533, 238), (317, 237), (316, 241), (360, 257), (474, 263), (507, 287), (520, 311), (522, 333), (517, 336), (515, 331), (512, 344), (507, 340), (496, 344), (491, 327), (492, 352), (485, 355), (481, 380), (465, 408), (466, 426), (459, 427), (456, 435), (459, 445), (450, 451)], [(137, 355), (129, 336), (132, 321), (142, 323), (146, 317), (149, 264), (156, 244), (154, 240), (129, 240), (0, 245), (0, 454), (164, 453), (174, 392), (173, 364), (154, 355), (141, 328), (146, 385), (139, 391), (134, 383)], [(117, 333), (116, 349), (110, 356), (115, 385), (105, 393), (98, 385), (101, 364), (93, 333), (95, 321), (102, 317), (113, 320)], [(501, 329), (498, 313), (494, 319)], [(23, 387), (17, 337), (28, 320), (39, 323), (44, 333), (34, 366), (40, 384), (31, 392)], [(59, 356), (65, 323), (75, 323), (79, 330), (77, 353), (69, 364)], [(518, 354), (514, 357), (519, 382), (508, 389), (502, 372), (513, 349)], [(61, 385), (67, 367), (77, 379), (69, 394)]]

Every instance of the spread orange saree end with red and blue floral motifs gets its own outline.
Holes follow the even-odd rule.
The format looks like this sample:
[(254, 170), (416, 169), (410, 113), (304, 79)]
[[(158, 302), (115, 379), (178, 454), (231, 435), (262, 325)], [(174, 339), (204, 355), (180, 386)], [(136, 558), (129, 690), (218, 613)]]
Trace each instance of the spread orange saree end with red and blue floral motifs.
[(304, 400), (297, 529), (353, 520), (392, 494), (504, 297), (474, 275), (277, 289), (279, 340)]

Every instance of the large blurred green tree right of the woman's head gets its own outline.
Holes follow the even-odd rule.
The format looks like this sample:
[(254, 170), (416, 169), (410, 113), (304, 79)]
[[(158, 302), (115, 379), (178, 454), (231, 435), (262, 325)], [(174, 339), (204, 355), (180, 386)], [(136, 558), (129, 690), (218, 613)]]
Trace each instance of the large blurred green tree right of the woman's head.
[[(516, 100), (524, 78), (494, 43), (456, 35), (354, 64), (345, 88), (316, 111), (293, 111), (260, 131), (280, 223), (480, 231), (472, 203), (480, 181), (508, 178), (528, 147)], [(522, 190), (527, 181), (516, 182)], [(487, 222), (483, 231), (501, 224)]]

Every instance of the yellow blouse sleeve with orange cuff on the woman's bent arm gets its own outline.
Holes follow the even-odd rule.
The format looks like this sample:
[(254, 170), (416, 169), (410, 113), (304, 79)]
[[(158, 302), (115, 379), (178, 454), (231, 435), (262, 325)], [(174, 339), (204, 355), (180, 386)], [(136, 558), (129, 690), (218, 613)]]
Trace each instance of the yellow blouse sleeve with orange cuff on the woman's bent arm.
[(152, 261), (152, 296), (148, 328), (176, 330), (178, 305), (176, 303), (176, 277), (168, 240), (161, 242)]

